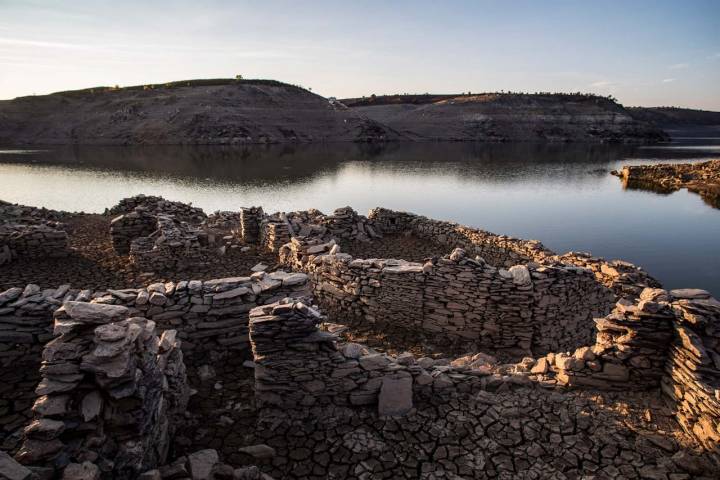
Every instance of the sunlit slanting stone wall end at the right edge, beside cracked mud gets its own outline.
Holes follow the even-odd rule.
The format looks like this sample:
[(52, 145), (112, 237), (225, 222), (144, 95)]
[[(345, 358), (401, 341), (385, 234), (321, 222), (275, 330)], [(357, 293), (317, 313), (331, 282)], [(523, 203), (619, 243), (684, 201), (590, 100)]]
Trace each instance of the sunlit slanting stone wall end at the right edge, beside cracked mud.
[(702, 290), (670, 294), (675, 337), (663, 392), (683, 429), (720, 456), (720, 302)]

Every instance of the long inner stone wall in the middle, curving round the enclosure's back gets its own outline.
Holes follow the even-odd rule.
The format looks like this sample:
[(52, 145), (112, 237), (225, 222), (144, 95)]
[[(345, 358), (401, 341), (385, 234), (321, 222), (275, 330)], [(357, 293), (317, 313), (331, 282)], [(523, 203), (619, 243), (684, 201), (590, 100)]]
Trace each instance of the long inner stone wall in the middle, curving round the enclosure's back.
[(554, 351), (588, 344), (610, 291), (587, 269), (496, 268), (462, 249), (425, 264), (353, 259), (330, 241), (294, 238), (285, 265), (307, 271), (333, 318), (472, 341), (486, 349)]

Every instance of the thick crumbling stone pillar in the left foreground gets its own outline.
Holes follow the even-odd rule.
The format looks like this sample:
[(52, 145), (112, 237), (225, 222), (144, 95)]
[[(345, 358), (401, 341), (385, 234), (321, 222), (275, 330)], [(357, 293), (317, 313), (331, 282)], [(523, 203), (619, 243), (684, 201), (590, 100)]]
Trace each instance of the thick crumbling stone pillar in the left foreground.
[(55, 312), (21, 463), (135, 478), (165, 462), (189, 395), (180, 342), (129, 313), (76, 301)]

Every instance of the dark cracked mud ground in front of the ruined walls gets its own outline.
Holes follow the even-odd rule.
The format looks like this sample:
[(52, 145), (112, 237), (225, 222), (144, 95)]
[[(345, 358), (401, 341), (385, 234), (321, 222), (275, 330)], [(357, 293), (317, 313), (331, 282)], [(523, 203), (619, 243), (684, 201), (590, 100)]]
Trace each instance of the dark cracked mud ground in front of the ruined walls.
[[(373, 408), (259, 416), (253, 370), (213, 363), (200, 381), (174, 454), (218, 450), (221, 461), (258, 465), (275, 479), (717, 478), (693, 450), (659, 392), (555, 392), (509, 383), (495, 391), (416, 399), (402, 418)], [(255, 457), (241, 448), (256, 447)], [(270, 447), (270, 448), (267, 448)]]

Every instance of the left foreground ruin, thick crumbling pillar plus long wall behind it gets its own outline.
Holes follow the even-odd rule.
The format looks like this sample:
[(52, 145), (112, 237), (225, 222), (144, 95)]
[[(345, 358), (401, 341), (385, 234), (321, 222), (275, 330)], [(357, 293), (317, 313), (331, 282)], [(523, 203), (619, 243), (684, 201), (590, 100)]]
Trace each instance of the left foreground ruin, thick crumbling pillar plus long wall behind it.
[(183, 356), (250, 352), (248, 312), (303, 296), (306, 284), (303, 273), (277, 271), (144, 289), (0, 293), (0, 441), (22, 440), (16, 458), (37, 475), (136, 478), (164, 465), (187, 403)]

